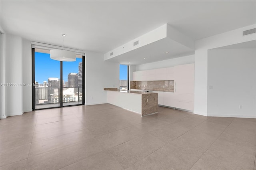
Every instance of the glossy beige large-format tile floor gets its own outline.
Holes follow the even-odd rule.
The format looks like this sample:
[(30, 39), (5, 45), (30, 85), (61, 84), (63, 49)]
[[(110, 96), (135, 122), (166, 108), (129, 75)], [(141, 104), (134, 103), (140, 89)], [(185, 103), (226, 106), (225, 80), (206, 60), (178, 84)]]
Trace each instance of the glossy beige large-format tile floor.
[(256, 169), (256, 119), (102, 104), (0, 121), (1, 170)]

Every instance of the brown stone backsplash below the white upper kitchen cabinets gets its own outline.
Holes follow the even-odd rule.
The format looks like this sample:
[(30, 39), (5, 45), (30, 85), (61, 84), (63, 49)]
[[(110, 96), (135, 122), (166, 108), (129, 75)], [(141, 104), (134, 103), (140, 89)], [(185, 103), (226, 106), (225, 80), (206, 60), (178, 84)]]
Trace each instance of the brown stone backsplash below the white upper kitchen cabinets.
[(130, 88), (140, 90), (160, 90), (174, 92), (174, 80), (130, 81)]

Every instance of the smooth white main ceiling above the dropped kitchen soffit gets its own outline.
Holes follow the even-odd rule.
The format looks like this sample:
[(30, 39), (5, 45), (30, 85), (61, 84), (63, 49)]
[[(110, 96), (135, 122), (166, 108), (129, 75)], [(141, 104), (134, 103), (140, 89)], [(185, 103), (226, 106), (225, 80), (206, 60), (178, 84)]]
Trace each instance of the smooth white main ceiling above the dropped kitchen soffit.
[[(0, 1), (7, 34), (106, 53), (164, 24), (199, 40), (256, 22), (256, 1)], [(161, 45), (161, 44), (159, 44)], [(171, 56), (170, 56), (171, 57)]]

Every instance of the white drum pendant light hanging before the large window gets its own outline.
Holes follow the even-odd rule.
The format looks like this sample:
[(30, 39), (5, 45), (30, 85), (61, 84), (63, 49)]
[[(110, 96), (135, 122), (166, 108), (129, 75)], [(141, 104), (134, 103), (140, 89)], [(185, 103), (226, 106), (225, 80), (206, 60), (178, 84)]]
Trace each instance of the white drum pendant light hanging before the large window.
[(66, 37), (66, 35), (62, 34), (62, 36), (62, 49), (51, 49), (50, 58), (58, 61), (76, 61), (76, 53), (73, 51), (64, 50), (64, 37)]

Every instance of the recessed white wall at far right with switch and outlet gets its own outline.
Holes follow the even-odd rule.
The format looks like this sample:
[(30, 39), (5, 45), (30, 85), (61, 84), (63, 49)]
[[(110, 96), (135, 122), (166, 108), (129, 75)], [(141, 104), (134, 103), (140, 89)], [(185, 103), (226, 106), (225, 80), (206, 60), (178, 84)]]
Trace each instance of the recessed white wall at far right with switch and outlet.
[(255, 58), (255, 48), (208, 51), (208, 116), (256, 118)]

